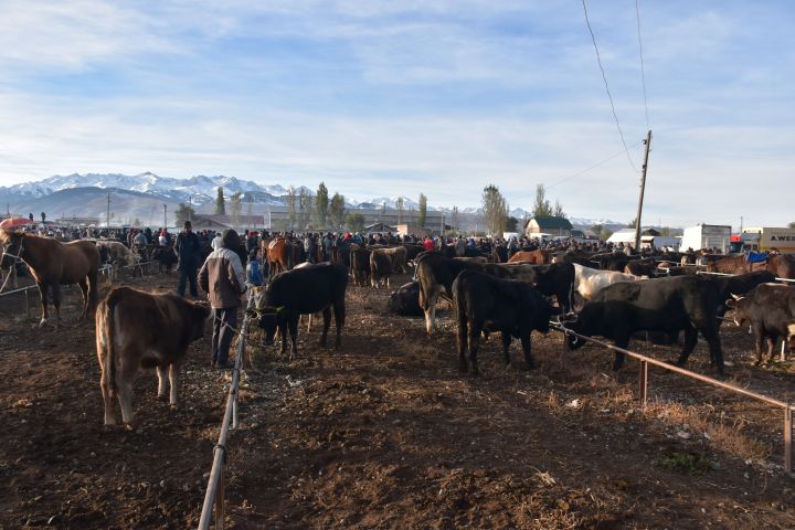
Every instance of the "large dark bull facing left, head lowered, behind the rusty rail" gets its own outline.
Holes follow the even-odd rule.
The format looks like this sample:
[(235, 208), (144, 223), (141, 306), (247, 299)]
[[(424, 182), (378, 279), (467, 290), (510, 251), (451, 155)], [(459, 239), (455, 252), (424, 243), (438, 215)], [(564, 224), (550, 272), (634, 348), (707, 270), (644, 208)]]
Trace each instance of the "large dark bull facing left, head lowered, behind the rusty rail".
[[(723, 373), (716, 318), (721, 301), (716, 283), (702, 276), (619, 282), (603, 288), (586, 303), (570, 328), (586, 337), (605, 337), (619, 348), (626, 348), (636, 331), (661, 331), (669, 336), (685, 331), (685, 347), (676, 361), (680, 367), (696, 347), (700, 331), (709, 344), (710, 359), (718, 372)], [(577, 337), (566, 336), (570, 350), (583, 343)], [(616, 352), (613, 370), (623, 363), (624, 353)]]

